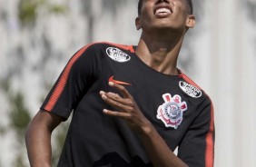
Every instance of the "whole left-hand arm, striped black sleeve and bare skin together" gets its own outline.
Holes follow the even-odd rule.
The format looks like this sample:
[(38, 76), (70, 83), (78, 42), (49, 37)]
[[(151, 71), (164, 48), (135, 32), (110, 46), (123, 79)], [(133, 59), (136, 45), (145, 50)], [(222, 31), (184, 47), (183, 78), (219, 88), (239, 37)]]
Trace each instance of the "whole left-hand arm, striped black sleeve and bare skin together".
[(45, 98), (41, 111), (28, 126), (25, 142), (31, 166), (51, 166), (51, 134), (59, 123), (69, 117), (89, 88), (94, 74), (98, 74), (98, 56), (94, 56), (97, 51), (97, 47), (89, 44), (71, 57)]

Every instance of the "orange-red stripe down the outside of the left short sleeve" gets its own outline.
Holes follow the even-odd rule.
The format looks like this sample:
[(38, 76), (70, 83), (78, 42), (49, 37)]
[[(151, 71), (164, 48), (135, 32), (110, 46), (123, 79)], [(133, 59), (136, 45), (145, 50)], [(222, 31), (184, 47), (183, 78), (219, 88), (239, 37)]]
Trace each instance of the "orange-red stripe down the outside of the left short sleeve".
[(44, 109), (48, 112), (52, 112), (55, 103), (58, 101), (59, 97), (61, 96), (61, 94), (64, 91), (64, 87), (65, 84), (67, 82), (69, 73), (71, 71), (71, 68), (73, 66), (73, 64), (75, 63), (75, 61), (84, 53), (84, 51), (91, 46), (92, 44), (89, 45), (85, 45), (82, 49), (80, 49), (76, 54), (74, 54), (74, 56), (71, 58), (71, 60), (69, 61), (69, 63), (66, 65), (66, 67), (64, 68), (64, 72), (62, 74), (62, 76), (60, 77), (59, 82), (57, 83), (56, 87), (54, 88), (54, 92), (52, 93), (48, 103), (46, 103)]

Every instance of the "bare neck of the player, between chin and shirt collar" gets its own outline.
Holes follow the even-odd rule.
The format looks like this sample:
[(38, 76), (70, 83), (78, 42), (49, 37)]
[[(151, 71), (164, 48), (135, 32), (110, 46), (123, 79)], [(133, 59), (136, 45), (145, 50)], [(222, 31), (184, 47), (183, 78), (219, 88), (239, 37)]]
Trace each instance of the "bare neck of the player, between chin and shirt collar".
[(182, 48), (183, 34), (145, 34), (143, 33), (136, 54), (154, 70), (176, 75), (177, 60)]

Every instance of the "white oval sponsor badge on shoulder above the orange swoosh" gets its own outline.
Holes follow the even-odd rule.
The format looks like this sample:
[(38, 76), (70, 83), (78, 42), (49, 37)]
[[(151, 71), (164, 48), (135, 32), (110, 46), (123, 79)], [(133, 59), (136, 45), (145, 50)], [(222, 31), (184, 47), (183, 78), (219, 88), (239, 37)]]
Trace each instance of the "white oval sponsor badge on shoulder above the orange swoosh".
[(131, 59), (131, 56), (125, 54), (122, 50), (116, 47), (108, 47), (106, 49), (106, 54), (113, 59), (115, 62), (124, 63), (128, 62)]

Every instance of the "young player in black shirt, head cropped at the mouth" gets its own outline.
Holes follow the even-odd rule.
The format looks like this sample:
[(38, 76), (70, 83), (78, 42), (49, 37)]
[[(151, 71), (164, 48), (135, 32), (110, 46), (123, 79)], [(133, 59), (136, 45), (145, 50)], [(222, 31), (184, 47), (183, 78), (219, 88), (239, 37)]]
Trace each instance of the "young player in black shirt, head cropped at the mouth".
[(26, 133), (32, 166), (51, 166), (51, 133), (72, 111), (60, 167), (213, 166), (211, 100), (176, 67), (192, 2), (138, 8), (138, 46), (89, 44), (65, 66)]

